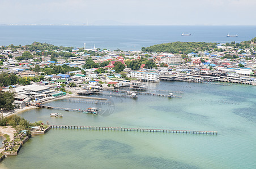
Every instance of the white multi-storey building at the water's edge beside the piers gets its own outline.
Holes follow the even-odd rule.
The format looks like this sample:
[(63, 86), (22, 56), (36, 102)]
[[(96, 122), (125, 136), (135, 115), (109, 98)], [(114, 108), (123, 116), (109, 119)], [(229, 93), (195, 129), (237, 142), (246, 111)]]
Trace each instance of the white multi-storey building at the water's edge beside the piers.
[(157, 73), (131, 72), (131, 78), (136, 78), (147, 82), (159, 82), (159, 74)]

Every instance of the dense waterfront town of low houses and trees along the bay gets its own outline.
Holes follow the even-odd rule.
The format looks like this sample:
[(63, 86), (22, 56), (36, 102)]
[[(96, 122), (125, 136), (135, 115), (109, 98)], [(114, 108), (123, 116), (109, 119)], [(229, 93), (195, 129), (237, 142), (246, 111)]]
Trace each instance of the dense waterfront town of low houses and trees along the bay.
[[(205, 43), (203, 47), (179, 49), (178, 52), (159, 51), (159, 48), (154, 51), (154, 47), (143, 47), (141, 51), (107, 50), (95, 46), (88, 49), (85, 45), (83, 48), (58, 47), (39, 42), (2, 46), (0, 99), (3, 100), (2, 96), (6, 94), (5, 99), (8, 97), (11, 101), (1, 103), (1, 123), (8, 121), (14, 126), (18, 123), (31, 126), (24, 118), (6, 119), (5, 122), (3, 118), (27, 106), (41, 106), (45, 101), (67, 95), (100, 94), (103, 90), (115, 93), (122, 88), (130, 88), (129, 91), (136, 94), (136, 91), (147, 88), (142, 81), (256, 85), (255, 41), (254, 38), (244, 43)], [(127, 92), (127, 95), (131, 94), (133, 92)], [(40, 126), (34, 134), (49, 130), (40, 122), (32, 126)], [(5, 141), (3, 154), (18, 153), (20, 145), (28, 139), (22, 129), (15, 135), (9, 133), (11, 139)], [(5, 128), (1, 132), (5, 133)], [(19, 144), (15, 144), (17, 139)], [(11, 153), (15, 147), (16, 153)]]

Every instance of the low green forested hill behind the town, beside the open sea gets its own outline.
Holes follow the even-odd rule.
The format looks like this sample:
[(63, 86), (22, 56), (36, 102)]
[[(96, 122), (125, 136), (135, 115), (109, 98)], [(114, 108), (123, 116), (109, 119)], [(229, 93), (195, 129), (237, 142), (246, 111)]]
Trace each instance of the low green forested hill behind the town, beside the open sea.
[(215, 48), (217, 43), (206, 42), (172, 42), (153, 45), (150, 47), (142, 47), (143, 52), (169, 52), (173, 54), (189, 54), (191, 52), (209, 51)]

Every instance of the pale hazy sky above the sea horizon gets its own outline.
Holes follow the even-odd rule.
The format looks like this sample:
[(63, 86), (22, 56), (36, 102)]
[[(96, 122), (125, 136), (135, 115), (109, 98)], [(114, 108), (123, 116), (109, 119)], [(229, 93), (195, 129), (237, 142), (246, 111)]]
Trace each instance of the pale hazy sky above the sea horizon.
[(256, 25), (256, 0), (0, 0), (0, 24)]

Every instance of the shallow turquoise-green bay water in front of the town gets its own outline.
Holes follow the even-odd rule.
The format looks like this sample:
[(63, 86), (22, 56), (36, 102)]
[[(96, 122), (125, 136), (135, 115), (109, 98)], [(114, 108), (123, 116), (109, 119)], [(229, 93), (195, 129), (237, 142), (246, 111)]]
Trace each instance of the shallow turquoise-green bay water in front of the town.
[[(33, 136), (0, 168), (255, 168), (255, 86), (160, 82), (149, 88), (184, 91), (182, 99), (111, 97), (108, 117), (33, 109), (20, 115), (50, 124), (218, 131), (218, 135), (52, 129)], [(177, 94), (178, 95), (178, 94)], [(93, 104), (54, 101), (86, 109)], [(104, 107), (102, 108), (104, 109)], [(63, 118), (51, 118), (51, 112)]]

